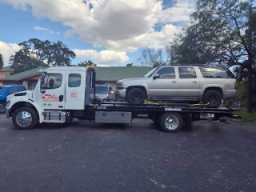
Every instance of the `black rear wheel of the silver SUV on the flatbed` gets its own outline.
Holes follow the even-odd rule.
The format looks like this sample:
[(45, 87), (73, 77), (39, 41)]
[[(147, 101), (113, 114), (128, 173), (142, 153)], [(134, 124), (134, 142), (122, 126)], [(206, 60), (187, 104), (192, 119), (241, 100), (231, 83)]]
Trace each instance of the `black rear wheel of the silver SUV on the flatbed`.
[(210, 102), (209, 106), (220, 106), (222, 104), (222, 94), (218, 90), (207, 90), (202, 98), (203, 103)]

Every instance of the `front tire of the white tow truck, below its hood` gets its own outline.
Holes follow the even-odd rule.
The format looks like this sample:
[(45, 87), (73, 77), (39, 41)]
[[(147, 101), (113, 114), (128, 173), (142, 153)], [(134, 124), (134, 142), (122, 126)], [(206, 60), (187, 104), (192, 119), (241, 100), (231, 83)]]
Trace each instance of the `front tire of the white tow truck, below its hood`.
[[(30, 124), (29, 125), (25, 125), (25, 126), (21, 126), (18, 122), (17, 122), (17, 116), (18, 114), (22, 113), (22, 112), (26, 112), (28, 114), (30, 114), (30, 118), (28, 119), (31, 119), (30, 121)], [(31, 130), (34, 128), (34, 126), (36, 126), (38, 124), (38, 114), (37, 112), (32, 109), (31, 107), (28, 107), (28, 106), (22, 106), (21, 108), (18, 108), (18, 110), (15, 110), (14, 111), (14, 114), (13, 114), (13, 117), (12, 117), (12, 121), (14, 123), (14, 126), (16, 126), (18, 129), (20, 130)]]

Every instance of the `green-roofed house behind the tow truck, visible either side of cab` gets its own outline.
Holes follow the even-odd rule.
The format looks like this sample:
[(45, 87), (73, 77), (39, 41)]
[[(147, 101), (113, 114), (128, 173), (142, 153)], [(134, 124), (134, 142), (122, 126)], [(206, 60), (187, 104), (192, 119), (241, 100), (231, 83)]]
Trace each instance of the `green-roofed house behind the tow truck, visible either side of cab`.
[[(27, 70), (19, 74), (12, 74), (4, 78), (0, 78), (0, 82), (4, 86), (7, 85), (24, 85), (28, 90), (33, 90), (34, 86), (40, 78), (41, 72), (46, 68), (38, 67), (34, 70)], [(115, 83), (123, 78), (140, 78), (150, 71), (147, 66), (114, 66), (114, 67), (98, 67), (96, 69), (96, 83), (112, 86), (115, 90)]]

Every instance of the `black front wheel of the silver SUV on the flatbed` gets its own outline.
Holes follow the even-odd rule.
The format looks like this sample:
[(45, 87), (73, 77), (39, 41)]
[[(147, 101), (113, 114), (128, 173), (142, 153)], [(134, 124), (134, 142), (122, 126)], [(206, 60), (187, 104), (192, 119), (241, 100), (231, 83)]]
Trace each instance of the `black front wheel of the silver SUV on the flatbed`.
[(130, 104), (143, 104), (145, 99), (145, 92), (139, 88), (134, 88), (130, 90), (126, 98), (127, 102)]

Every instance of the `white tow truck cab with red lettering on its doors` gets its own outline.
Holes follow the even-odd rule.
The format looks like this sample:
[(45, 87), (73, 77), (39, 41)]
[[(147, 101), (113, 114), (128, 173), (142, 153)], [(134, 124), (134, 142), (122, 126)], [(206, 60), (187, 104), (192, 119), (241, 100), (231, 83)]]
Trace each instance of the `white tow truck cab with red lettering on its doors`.
[[(40, 123), (64, 122), (70, 114), (63, 111), (85, 110), (86, 77), (90, 76), (90, 71), (79, 66), (50, 67), (43, 70), (34, 90), (22, 91), (7, 97), (7, 118), (17, 112), (17, 109), (23, 109), (15, 114), (17, 119), (14, 124), (18, 124), (17, 126), (34, 126), (34, 118), (38, 118)], [(89, 83), (88, 85), (90, 86)], [(30, 111), (26, 111), (28, 109)], [(31, 114), (31, 110), (36, 113)], [(38, 117), (33, 118), (34, 114)]]

